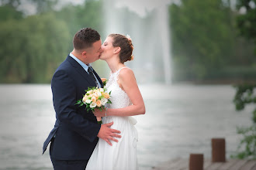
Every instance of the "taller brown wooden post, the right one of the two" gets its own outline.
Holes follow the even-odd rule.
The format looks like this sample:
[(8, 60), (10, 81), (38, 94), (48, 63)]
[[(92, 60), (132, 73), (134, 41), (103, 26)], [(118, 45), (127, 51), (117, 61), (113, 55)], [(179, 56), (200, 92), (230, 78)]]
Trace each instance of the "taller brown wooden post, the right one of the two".
[(225, 138), (212, 138), (212, 162), (226, 162)]

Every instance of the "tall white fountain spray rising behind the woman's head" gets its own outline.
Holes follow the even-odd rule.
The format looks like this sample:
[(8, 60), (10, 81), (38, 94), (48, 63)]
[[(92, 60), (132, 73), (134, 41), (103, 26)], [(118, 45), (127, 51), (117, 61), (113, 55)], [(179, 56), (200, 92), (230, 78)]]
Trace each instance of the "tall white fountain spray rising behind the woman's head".
[(169, 0), (104, 1), (105, 35), (129, 34), (135, 59), (128, 62), (139, 83), (171, 83), (171, 36), (168, 25)]

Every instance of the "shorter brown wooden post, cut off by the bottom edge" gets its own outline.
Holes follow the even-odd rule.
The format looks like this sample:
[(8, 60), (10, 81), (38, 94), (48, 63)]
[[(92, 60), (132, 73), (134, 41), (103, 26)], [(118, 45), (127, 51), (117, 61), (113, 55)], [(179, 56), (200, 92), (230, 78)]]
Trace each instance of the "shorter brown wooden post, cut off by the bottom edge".
[(202, 170), (203, 169), (203, 155), (190, 154), (189, 156), (189, 170)]

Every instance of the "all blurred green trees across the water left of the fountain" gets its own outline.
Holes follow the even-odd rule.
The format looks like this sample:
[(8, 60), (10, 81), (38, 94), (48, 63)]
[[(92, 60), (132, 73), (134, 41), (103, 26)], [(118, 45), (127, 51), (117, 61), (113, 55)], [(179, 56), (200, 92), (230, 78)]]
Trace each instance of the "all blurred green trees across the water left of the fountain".
[(3, 0), (0, 6), (0, 83), (50, 83), (73, 48), (74, 33), (83, 27), (103, 28), (101, 1), (54, 12), (57, 0), (29, 0), (37, 14), (26, 18), (17, 11), (20, 2)]

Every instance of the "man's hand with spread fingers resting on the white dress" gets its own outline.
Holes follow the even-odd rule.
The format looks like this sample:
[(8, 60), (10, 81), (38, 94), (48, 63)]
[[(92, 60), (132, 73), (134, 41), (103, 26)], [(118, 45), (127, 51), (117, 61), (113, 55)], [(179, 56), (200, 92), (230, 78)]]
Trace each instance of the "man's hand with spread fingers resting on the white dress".
[(116, 129), (110, 128), (112, 124), (114, 123), (111, 122), (109, 124), (102, 124), (101, 128), (99, 129), (99, 134), (97, 135), (99, 138), (102, 138), (111, 146), (112, 146), (112, 143), (110, 141), (118, 142), (116, 138), (121, 138), (121, 135), (119, 135), (121, 131), (117, 131)]

